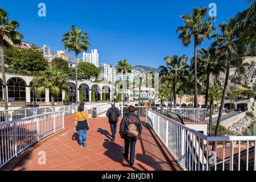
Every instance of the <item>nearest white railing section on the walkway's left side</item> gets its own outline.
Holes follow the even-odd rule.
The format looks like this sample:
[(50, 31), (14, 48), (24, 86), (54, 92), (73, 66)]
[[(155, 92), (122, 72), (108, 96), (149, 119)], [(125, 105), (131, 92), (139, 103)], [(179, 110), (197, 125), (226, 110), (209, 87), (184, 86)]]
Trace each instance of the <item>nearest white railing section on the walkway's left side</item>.
[(64, 129), (64, 112), (0, 123), (0, 168), (39, 140)]

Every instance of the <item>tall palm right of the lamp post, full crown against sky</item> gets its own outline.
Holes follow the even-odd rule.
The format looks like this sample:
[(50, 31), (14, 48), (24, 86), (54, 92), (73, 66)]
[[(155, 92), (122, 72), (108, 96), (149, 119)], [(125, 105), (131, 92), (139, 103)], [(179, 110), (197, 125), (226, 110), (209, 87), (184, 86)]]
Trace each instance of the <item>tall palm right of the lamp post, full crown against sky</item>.
[(207, 7), (199, 9), (198, 7), (193, 8), (193, 13), (191, 15), (185, 14), (181, 18), (184, 19), (185, 26), (177, 28), (176, 32), (180, 32), (179, 39), (181, 39), (184, 46), (188, 46), (193, 38), (194, 42), (194, 93), (195, 101), (194, 106), (197, 107), (197, 46), (203, 42), (205, 38), (210, 39), (212, 31), (215, 30), (214, 26), (210, 23), (215, 18), (210, 17), (207, 20), (205, 16), (207, 15)]

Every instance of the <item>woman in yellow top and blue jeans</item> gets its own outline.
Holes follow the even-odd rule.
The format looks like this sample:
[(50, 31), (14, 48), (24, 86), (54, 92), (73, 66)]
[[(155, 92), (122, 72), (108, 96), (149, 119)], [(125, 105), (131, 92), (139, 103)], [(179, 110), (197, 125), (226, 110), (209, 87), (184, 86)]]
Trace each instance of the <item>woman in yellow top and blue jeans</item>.
[(79, 105), (76, 113), (74, 127), (79, 132), (80, 147), (86, 147), (87, 130), (89, 130), (88, 113), (84, 111), (84, 105)]

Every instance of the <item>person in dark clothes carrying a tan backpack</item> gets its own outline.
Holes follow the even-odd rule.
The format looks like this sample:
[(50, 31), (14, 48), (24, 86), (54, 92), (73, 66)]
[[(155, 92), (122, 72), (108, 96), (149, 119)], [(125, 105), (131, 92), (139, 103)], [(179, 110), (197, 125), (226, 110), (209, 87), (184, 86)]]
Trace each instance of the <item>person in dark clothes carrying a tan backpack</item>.
[(129, 113), (123, 117), (120, 124), (119, 134), (125, 139), (125, 152), (123, 157), (128, 159), (130, 147), (130, 166), (134, 166), (135, 146), (137, 140), (141, 139), (142, 125), (141, 119), (134, 114), (135, 107), (129, 106)]

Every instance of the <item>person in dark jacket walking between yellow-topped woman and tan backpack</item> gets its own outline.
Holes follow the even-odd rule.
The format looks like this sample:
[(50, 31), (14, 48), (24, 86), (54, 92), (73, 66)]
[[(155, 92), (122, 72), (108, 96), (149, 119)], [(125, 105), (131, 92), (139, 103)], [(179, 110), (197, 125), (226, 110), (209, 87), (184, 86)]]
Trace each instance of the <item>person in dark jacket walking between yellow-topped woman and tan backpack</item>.
[(106, 116), (109, 118), (110, 129), (112, 133), (112, 142), (115, 142), (115, 134), (117, 133), (117, 122), (118, 118), (121, 115), (119, 109), (115, 107), (115, 102), (111, 103), (111, 108), (109, 108)]

